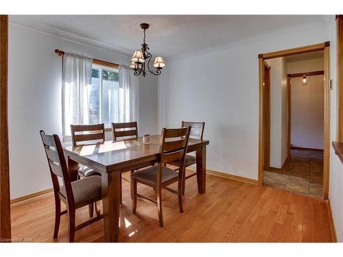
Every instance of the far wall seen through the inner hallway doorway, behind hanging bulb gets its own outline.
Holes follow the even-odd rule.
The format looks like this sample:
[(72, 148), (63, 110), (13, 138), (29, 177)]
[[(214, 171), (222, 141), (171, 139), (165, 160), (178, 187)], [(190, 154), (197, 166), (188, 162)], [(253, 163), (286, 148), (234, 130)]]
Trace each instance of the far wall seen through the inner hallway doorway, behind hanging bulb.
[[(324, 60), (322, 60), (324, 63)], [(324, 75), (291, 79), (291, 145), (324, 148)]]

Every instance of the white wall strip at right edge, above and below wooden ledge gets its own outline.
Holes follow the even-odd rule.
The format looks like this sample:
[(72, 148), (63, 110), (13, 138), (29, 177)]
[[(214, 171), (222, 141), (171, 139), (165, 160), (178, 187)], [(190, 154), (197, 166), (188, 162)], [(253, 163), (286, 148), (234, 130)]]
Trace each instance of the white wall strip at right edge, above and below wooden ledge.
[[(331, 121), (330, 121), (330, 138), (336, 140), (336, 119), (337, 119), (337, 79), (336, 79), (336, 25), (335, 16), (331, 16), (329, 25), (330, 35), (330, 70), (331, 79), (333, 79), (333, 90), (331, 90)], [(335, 155), (333, 147), (330, 147), (330, 188), (329, 198), (335, 231), (338, 242), (343, 242), (343, 164)]]

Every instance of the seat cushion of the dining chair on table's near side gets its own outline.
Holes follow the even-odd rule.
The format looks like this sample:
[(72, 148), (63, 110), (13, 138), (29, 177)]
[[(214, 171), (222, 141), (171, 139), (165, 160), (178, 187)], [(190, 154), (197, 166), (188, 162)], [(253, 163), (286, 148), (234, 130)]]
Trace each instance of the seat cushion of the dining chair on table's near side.
[[(157, 171), (158, 171), (158, 166), (153, 166), (153, 167), (142, 169), (140, 171), (136, 171), (132, 173), (132, 177), (137, 178), (137, 180), (141, 180), (143, 182), (156, 185)], [(173, 169), (169, 169), (163, 166), (162, 183), (167, 182), (168, 180), (172, 180), (177, 177), (178, 177), (177, 171), (174, 171)]]

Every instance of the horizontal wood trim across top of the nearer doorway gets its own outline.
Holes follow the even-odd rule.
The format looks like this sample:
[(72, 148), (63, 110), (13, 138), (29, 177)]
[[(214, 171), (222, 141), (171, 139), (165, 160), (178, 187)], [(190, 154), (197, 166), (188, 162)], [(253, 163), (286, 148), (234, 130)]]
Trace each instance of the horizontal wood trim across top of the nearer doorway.
[(296, 47), (292, 49), (274, 51), (270, 53), (261, 53), (259, 54), (259, 58), (261, 56), (263, 60), (267, 60), (267, 59), (278, 58), (278, 57), (292, 56), (294, 54), (299, 54), (299, 53), (309, 53), (312, 51), (324, 50), (325, 47), (329, 47), (329, 46), (330, 46), (330, 42), (322, 42), (320, 44), (308, 45), (305, 47)]

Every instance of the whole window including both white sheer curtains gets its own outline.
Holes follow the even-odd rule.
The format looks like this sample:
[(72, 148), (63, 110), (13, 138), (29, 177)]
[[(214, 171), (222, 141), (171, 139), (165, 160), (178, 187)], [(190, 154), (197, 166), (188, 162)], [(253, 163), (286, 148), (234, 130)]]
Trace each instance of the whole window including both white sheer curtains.
[[(121, 85), (119, 86), (119, 72)], [(62, 73), (62, 134), (70, 125), (138, 120), (138, 79), (125, 65), (65, 53)]]

